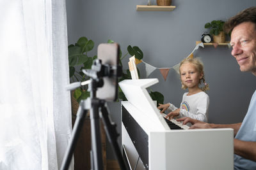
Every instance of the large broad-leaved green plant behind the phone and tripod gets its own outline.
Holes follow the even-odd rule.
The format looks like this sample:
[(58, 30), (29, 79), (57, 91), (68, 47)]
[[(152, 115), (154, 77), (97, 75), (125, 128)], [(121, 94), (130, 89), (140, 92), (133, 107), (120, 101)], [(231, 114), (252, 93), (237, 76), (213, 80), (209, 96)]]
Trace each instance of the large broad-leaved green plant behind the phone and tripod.
[[(108, 43), (114, 43), (114, 41), (109, 39)], [(75, 43), (74, 45), (72, 44), (68, 46), (70, 82), (89, 80), (89, 77), (82, 72), (82, 69), (91, 69), (93, 60), (97, 59), (97, 55), (94, 55), (93, 57), (88, 56), (88, 52), (93, 50), (93, 47), (94, 47), (94, 42), (92, 41), (92, 39), (88, 39), (86, 37), (81, 37), (77, 40), (77, 43)], [(127, 53), (125, 53), (123, 56), (122, 56), (122, 51), (120, 50), (119, 63), (121, 66), (123, 65), (122, 60), (128, 54), (131, 56), (134, 55), (136, 60), (143, 59), (143, 52), (140, 50), (140, 48), (138, 46), (129, 45), (127, 46)], [(138, 69), (138, 74), (140, 77), (139, 69)], [(118, 82), (125, 79), (131, 79), (131, 73), (129, 69), (126, 69), (123, 71), (123, 74), (118, 79)], [(88, 87), (84, 86), (84, 87), (79, 87), (72, 92), (72, 96), (74, 96), (77, 103), (79, 103), (82, 99), (86, 99), (87, 97), (90, 97), (90, 92), (88, 92), (87, 89)], [(150, 90), (149, 94), (152, 97), (152, 99), (157, 101), (157, 106), (158, 106), (158, 103), (163, 103), (164, 101), (163, 94), (159, 92), (153, 92), (151, 89), (149, 90)], [(118, 99), (127, 101), (120, 87), (118, 87)]]

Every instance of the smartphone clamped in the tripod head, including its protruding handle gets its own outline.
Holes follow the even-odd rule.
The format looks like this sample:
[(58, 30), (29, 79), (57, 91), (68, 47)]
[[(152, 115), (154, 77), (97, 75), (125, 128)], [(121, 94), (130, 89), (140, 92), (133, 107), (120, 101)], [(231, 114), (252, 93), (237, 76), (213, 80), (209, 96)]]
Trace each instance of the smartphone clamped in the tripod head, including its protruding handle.
[(96, 96), (105, 101), (116, 101), (118, 77), (122, 75), (122, 66), (118, 66), (119, 53), (120, 47), (117, 43), (100, 44), (98, 59), (93, 63), (92, 69), (82, 70), (90, 77), (90, 80), (71, 83), (66, 89), (74, 90), (81, 85), (89, 84), (88, 90), (91, 97)]

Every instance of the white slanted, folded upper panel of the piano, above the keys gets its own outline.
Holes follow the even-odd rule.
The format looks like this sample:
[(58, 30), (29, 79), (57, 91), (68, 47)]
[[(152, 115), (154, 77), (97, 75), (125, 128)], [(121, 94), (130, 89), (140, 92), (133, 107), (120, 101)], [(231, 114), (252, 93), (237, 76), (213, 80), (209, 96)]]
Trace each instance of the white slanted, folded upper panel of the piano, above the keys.
[[(129, 103), (143, 115), (143, 119), (140, 118), (140, 120), (136, 120), (135, 118), (139, 124), (145, 125), (145, 122), (147, 122), (148, 127), (151, 127), (146, 129), (149, 131), (152, 130), (152, 126), (156, 131), (170, 131), (170, 128), (146, 89), (157, 82), (157, 78), (124, 80), (119, 82), (119, 86), (123, 90)], [(132, 113), (130, 114), (132, 115)], [(138, 114), (138, 112), (136, 114)]]

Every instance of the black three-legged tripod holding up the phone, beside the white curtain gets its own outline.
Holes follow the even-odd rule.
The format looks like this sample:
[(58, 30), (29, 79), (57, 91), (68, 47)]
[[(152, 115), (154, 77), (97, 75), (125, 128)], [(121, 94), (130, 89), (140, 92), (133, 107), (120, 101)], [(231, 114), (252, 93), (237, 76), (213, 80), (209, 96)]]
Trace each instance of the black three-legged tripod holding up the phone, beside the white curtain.
[[(97, 62), (101, 66), (100, 62)], [(106, 66), (104, 66), (106, 67)], [(106, 70), (106, 69), (100, 69)], [(99, 70), (96, 70), (96, 72)], [(84, 71), (84, 73), (91, 75)], [(99, 77), (100, 75), (100, 77)], [(103, 160), (102, 160), (102, 146), (101, 146), (101, 137), (100, 137), (100, 115), (99, 110), (101, 111), (101, 117), (104, 124), (104, 129), (106, 131), (106, 135), (108, 137), (109, 143), (113, 147), (114, 153), (116, 155), (116, 159), (118, 160), (118, 164), (120, 169), (128, 169), (125, 164), (122, 153), (119, 150), (117, 137), (118, 133), (116, 132), (116, 124), (111, 124), (109, 120), (108, 110), (106, 108), (106, 103), (102, 99), (98, 99), (96, 97), (96, 92), (98, 87), (102, 87), (103, 80), (102, 76), (105, 74), (97, 74), (93, 71), (93, 74), (90, 78), (89, 90), (90, 90), (90, 98), (86, 100), (82, 100), (79, 103), (79, 108), (77, 110), (77, 118), (74, 124), (72, 136), (70, 139), (70, 143), (68, 144), (65, 156), (63, 158), (63, 162), (61, 164), (61, 170), (67, 170), (70, 161), (72, 159), (72, 153), (74, 152), (74, 148), (76, 146), (77, 139), (79, 137), (79, 133), (81, 131), (81, 127), (83, 126), (84, 118), (86, 117), (87, 111), (90, 110), (90, 120), (91, 120), (91, 134), (92, 134), (92, 154), (91, 154), (91, 169), (99, 169), (103, 170)]]

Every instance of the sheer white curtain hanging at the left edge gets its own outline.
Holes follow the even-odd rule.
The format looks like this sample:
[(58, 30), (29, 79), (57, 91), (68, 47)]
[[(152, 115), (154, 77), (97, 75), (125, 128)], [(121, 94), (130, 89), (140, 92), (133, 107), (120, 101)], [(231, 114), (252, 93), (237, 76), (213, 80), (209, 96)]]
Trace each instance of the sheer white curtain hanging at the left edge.
[(71, 134), (65, 0), (0, 2), (0, 169), (60, 169)]

